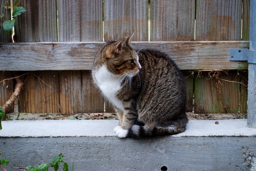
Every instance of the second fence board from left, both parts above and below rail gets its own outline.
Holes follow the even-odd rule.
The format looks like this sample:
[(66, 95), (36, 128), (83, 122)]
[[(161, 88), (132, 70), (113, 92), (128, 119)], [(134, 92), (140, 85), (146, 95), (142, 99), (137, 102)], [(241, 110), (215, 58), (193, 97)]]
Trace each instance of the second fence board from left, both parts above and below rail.
[[(20, 6), (27, 11), (17, 17), (15, 42), (56, 42), (58, 40), (55, 0), (23, 0), (20, 1)], [(36, 77), (39, 75), (41, 81)], [(58, 72), (31, 73), (20, 95), (19, 112), (59, 112), (58, 77)]]

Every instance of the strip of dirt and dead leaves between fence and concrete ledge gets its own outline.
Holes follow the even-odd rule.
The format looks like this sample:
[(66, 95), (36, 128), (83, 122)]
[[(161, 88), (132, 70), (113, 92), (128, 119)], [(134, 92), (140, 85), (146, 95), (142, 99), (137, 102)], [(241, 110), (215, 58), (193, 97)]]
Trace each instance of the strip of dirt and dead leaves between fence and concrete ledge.
[[(224, 119), (239, 119), (244, 118), (240, 114), (195, 114), (192, 112), (186, 113), (189, 120), (224, 120)], [(31, 113), (11, 113), (9, 119), (12, 120), (90, 120), (90, 119), (117, 119), (115, 113), (77, 113), (77, 114), (31, 114)]]

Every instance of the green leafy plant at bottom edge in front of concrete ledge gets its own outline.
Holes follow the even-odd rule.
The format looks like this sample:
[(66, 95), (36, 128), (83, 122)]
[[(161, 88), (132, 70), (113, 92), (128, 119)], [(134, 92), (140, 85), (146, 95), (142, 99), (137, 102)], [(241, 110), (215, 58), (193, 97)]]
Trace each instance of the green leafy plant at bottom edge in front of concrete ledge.
[(48, 171), (48, 168), (53, 167), (54, 171), (58, 171), (59, 166), (62, 163), (63, 171), (68, 171), (68, 165), (62, 160), (63, 157), (64, 155), (61, 153), (53, 158), (52, 163), (41, 164), (39, 166), (28, 166), (26, 167), (26, 169), (28, 169), (29, 171)]

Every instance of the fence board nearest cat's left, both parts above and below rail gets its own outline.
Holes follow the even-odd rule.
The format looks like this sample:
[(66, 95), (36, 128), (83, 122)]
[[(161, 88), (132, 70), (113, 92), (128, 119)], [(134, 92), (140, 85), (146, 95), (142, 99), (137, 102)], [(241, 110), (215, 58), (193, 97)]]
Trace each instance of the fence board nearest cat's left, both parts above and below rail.
[[(58, 19), (60, 42), (103, 39), (102, 0), (58, 1)], [(60, 79), (62, 113), (103, 112), (104, 100), (89, 71), (60, 71)]]

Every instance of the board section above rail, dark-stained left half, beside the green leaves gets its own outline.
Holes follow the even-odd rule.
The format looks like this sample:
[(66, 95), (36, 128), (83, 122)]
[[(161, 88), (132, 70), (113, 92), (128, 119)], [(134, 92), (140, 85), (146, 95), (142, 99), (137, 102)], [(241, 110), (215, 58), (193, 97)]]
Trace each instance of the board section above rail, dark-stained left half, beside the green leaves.
[(22, 0), (27, 11), (15, 25), (15, 42), (57, 42), (57, 8), (55, 0)]

